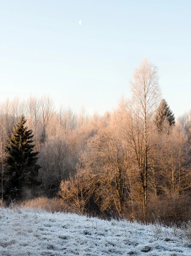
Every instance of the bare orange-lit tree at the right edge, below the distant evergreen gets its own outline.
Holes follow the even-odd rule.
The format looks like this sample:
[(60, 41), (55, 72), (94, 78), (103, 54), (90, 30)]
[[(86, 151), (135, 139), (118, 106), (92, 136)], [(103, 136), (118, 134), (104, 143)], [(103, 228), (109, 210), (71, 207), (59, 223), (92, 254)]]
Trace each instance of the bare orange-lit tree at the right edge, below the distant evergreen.
[(161, 150), (163, 189), (170, 188), (172, 195), (188, 192), (191, 187), (191, 146), (182, 125), (178, 122), (170, 134), (164, 134), (163, 141)]

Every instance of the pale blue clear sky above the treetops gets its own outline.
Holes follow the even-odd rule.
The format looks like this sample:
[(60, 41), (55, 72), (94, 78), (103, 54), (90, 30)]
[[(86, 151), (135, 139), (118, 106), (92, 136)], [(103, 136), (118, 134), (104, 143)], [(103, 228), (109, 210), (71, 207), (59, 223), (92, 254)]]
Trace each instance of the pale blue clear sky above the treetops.
[(179, 116), (191, 109), (190, 13), (190, 0), (0, 0), (0, 101), (46, 94), (102, 114), (148, 58)]

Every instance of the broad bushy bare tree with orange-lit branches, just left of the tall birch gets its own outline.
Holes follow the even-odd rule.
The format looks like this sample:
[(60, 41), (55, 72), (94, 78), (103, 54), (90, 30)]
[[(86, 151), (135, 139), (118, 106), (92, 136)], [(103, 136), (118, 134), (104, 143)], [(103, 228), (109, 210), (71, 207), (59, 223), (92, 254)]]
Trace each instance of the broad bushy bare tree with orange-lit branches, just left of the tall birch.
[(101, 211), (114, 210), (123, 215), (123, 204), (128, 198), (128, 156), (124, 151), (118, 129), (100, 130), (88, 141), (88, 152), (83, 155), (83, 169), (89, 173), (95, 188), (96, 202)]

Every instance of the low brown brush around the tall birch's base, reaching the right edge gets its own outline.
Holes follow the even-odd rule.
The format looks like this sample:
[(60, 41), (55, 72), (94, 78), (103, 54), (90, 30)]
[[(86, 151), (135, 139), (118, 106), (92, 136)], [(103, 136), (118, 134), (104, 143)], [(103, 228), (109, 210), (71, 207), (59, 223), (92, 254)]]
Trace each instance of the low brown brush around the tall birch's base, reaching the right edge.
[(141, 203), (125, 205), (126, 218), (131, 221), (159, 221), (165, 225), (176, 224), (180, 226), (191, 220), (191, 197), (188, 195), (150, 195), (146, 219), (143, 219), (143, 206)]

